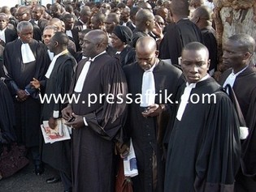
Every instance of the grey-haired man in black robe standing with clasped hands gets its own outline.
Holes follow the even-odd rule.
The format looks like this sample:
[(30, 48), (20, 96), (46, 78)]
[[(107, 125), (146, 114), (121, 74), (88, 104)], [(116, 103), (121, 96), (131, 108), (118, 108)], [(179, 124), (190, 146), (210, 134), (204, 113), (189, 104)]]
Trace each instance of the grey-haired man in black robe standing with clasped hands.
[(15, 98), (16, 134), (19, 143), (32, 151), (36, 174), (42, 173), (39, 157), (39, 131), (41, 103), (38, 90), (31, 87), (33, 78), (44, 79), (50, 59), (44, 45), (33, 39), (33, 25), (21, 21), (17, 26), (20, 39), (6, 45), (4, 65), (7, 84)]

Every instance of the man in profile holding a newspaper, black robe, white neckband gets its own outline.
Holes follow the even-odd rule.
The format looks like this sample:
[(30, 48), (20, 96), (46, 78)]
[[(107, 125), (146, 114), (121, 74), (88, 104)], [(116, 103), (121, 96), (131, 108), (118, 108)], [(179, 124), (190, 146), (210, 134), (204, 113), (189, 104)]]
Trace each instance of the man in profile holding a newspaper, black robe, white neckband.
[[(47, 96), (54, 94), (65, 96), (68, 93), (72, 83), (72, 76), (76, 67), (76, 60), (67, 51), (68, 36), (63, 32), (56, 32), (50, 38), (47, 45), (50, 52), (54, 53), (53, 61), (50, 63), (46, 72), (46, 92)], [(57, 43), (56, 43), (57, 42)], [(38, 83), (37, 80), (33, 83)], [(42, 120), (49, 121), (50, 128), (54, 129), (57, 125), (57, 118), (61, 116), (61, 110), (64, 104), (60, 101), (56, 103), (50, 100), (50, 103), (44, 103), (42, 108)], [(65, 191), (72, 191), (71, 177), (71, 142), (70, 140), (59, 141), (55, 143), (41, 143), (41, 159), (46, 164), (59, 171)], [(47, 183), (57, 181), (58, 179), (50, 178)]]

